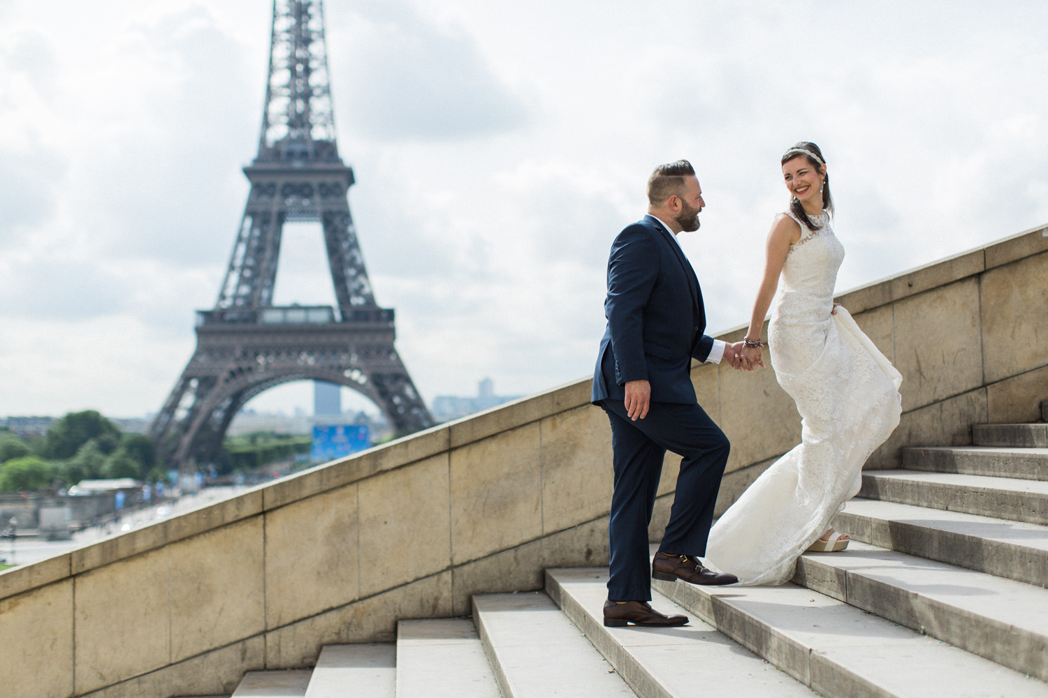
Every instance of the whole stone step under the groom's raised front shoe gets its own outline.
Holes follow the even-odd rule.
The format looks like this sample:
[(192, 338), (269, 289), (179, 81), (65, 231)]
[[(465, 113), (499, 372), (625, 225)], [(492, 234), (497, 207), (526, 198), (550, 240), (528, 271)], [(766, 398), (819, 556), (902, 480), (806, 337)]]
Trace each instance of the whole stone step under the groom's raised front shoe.
[(1048, 683), (795, 584), (654, 586), (824, 696), (1048, 696)]

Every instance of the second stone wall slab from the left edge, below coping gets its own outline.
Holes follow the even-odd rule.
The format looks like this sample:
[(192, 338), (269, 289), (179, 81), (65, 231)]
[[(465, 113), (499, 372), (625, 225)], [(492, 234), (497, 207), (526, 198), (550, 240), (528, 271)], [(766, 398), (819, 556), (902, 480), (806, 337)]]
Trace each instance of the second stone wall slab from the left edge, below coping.
[(168, 549), (77, 578), (77, 693), (89, 693), (166, 666), (171, 659)]

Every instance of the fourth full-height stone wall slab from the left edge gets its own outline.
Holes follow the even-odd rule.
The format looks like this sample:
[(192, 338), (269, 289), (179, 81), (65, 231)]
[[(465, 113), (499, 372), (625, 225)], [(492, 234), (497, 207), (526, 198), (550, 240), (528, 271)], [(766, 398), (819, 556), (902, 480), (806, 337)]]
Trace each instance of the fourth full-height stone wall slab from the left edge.
[(265, 514), (266, 628), (359, 596), (356, 485)]

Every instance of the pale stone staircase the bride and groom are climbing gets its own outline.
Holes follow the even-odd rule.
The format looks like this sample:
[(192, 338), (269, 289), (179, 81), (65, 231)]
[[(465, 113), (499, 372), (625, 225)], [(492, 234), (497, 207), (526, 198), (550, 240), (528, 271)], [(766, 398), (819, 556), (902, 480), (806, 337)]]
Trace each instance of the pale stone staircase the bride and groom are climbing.
[(472, 618), (400, 621), (395, 645), (325, 647), (233, 696), (1048, 697), (1048, 424), (973, 435), (865, 472), (835, 520), (849, 549), (790, 584), (655, 581), (690, 626), (605, 628), (607, 570), (548, 569), (544, 591), (474, 595)]

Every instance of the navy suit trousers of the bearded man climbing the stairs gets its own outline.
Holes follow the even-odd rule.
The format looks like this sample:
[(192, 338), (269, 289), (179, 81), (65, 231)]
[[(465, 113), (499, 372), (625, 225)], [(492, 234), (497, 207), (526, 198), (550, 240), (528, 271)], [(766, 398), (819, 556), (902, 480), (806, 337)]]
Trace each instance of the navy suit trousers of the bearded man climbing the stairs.
[(659, 549), (671, 555), (706, 553), (714, 505), (730, 449), (727, 436), (697, 404), (653, 402), (635, 422), (619, 399), (601, 402), (611, 421), (615, 489), (608, 537), (611, 544), (608, 598), (651, 601), (651, 522), (662, 458), (673, 451), (683, 459), (670, 522)]

